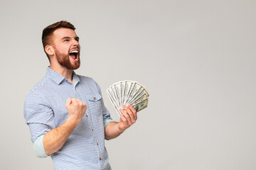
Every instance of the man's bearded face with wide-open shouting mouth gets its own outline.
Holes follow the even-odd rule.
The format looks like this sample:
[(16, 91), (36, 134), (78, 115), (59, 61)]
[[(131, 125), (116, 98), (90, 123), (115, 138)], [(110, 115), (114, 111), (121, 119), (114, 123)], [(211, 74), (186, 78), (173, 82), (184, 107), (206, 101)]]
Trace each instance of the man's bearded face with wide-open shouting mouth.
[(58, 63), (67, 69), (80, 67), (80, 45), (75, 31), (58, 28), (53, 32), (53, 48)]

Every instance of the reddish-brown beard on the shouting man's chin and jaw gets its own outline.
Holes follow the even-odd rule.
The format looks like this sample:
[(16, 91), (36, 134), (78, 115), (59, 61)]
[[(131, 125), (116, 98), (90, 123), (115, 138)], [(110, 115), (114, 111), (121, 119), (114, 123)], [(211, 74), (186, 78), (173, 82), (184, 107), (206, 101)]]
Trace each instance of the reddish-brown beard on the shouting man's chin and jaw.
[(57, 49), (55, 49), (55, 55), (57, 58), (58, 63), (67, 69), (78, 69), (80, 67), (80, 58), (78, 58), (78, 62), (75, 62), (75, 64), (72, 64), (70, 62), (69, 54), (63, 54), (58, 52)]

